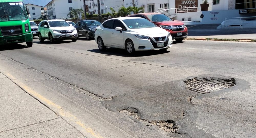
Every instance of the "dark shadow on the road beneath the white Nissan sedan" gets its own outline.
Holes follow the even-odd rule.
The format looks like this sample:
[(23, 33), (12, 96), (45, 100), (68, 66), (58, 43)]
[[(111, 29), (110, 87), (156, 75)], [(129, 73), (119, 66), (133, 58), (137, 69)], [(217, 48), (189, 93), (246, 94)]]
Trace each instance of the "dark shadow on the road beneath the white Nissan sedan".
[(106, 48), (105, 51), (100, 51), (99, 49), (92, 49), (88, 51), (105, 54), (106, 56), (115, 55), (115, 56), (123, 56), (123, 57), (151, 56), (151, 55), (158, 55), (158, 54), (164, 54), (164, 53), (170, 52), (170, 51), (160, 51), (160, 50), (135, 51), (134, 54), (129, 55), (128, 53), (126, 53), (124, 49), (118, 49), (118, 48)]

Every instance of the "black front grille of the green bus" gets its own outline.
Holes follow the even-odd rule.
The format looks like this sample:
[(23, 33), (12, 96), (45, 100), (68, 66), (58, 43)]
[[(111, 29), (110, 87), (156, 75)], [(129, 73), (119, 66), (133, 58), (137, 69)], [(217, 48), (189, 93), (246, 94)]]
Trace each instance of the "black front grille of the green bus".
[[(0, 27), (3, 36), (19, 36), (22, 35), (22, 26)], [(13, 31), (14, 30), (14, 31)]]

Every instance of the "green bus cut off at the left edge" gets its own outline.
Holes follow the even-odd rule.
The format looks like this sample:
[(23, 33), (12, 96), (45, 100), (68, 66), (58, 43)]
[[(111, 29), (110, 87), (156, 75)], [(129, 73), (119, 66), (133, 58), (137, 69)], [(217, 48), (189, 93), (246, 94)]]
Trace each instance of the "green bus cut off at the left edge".
[(26, 42), (33, 45), (29, 10), (23, 0), (0, 0), (0, 45)]

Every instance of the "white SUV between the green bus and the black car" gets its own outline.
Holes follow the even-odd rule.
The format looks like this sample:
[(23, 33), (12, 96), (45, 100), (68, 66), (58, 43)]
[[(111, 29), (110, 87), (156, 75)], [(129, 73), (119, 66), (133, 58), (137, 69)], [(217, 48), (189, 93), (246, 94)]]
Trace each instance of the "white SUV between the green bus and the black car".
[(77, 41), (77, 30), (65, 20), (44, 20), (38, 27), (38, 37), (40, 42), (49, 39), (51, 43), (55, 40)]

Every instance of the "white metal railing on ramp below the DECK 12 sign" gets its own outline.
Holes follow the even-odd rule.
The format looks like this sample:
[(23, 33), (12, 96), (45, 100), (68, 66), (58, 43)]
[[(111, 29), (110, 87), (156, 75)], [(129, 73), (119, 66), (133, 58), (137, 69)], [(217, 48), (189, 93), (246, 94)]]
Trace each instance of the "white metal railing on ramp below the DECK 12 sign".
[(201, 7), (184, 7), (184, 8), (170, 8), (170, 9), (162, 9), (156, 11), (155, 13), (163, 13), (168, 15), (177, 15), (178, 13), (188, 13), (188, 12), (197, 12), (201, 11)]

